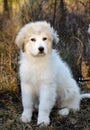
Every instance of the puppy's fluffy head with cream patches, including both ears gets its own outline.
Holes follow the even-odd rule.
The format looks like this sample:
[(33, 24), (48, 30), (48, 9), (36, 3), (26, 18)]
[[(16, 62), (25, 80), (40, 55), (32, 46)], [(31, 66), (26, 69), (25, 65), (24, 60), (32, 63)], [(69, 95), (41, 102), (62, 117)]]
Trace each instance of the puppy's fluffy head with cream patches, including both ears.
[(59, 41), (58, 35), (45, 21), (31, 22), (19, 31), (16, 37), (17, 46), (32, 56), (46, 55), (51, 52), (52, 45)]

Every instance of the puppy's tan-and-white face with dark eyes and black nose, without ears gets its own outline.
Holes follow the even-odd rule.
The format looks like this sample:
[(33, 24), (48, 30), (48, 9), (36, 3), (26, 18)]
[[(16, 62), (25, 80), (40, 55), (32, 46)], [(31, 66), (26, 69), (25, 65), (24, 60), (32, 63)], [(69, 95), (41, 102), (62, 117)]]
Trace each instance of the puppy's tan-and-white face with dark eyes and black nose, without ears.
[[(44, 31), (43, 31), (44, 30)], [(47, 28), (32, 27), (25, 38), (25, 52), (32, 56), (42, 56), (50, 53), (52, 39)]]

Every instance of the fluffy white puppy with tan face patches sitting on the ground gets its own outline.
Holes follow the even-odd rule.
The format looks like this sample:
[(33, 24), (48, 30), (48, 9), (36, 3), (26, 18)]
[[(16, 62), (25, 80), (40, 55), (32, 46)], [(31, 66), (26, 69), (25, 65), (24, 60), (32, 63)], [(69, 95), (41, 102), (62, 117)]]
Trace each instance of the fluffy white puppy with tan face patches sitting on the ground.
[(20, 80), (23, 113), (21, 120), (30, 122), (33, 107), (38, 106), (37, 124), (50, 123), (50, 112), (58, 102), (59, 114), (79, 110), (80, 100), (90, 94), (80, 94), (67, 64), (62, 61), (53, 43), (59, 41), (53, 27), (45, 21), (30, 22), (19, 31), (16, 44), (20, 48)]

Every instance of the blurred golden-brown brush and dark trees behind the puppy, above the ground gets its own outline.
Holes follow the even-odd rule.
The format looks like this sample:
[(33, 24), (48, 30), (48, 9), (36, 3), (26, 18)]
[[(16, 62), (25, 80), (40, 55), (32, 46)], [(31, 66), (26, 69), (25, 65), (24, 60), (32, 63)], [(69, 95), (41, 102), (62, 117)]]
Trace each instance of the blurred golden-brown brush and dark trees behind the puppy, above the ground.
[(15, 37), (30, 21), (46, 20), (57, 30), (54, 46), (75, 79), (90, 84), (90, 0), (0, 0), (0, 91), (18, 91)]

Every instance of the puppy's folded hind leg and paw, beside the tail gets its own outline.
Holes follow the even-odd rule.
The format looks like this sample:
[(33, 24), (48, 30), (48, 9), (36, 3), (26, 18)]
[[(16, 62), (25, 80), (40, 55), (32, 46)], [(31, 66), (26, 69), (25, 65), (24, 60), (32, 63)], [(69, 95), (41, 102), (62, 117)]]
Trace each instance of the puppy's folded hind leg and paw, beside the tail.
[(61, 115), (68, 115), (70, 109), (74, 111), (79, 110), (80, 89), (76, 81), (72, 78), (69, 78), (67, 81), (61, 82), (58, 88), (58, 97), (60, 97), (59, 99), (61, 101), (58, 107), (62, 108), (58, 113)]

